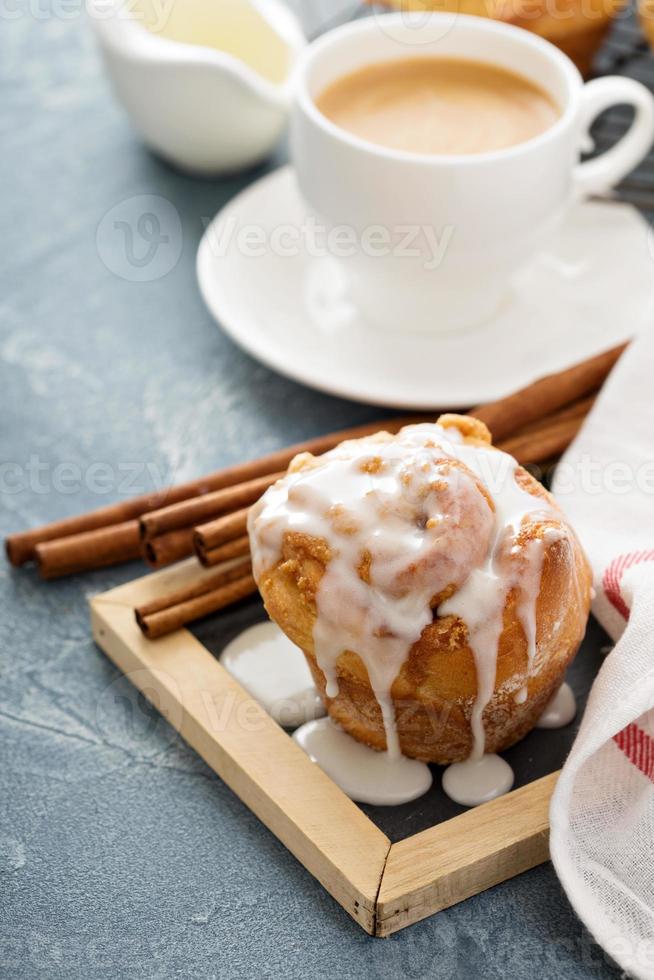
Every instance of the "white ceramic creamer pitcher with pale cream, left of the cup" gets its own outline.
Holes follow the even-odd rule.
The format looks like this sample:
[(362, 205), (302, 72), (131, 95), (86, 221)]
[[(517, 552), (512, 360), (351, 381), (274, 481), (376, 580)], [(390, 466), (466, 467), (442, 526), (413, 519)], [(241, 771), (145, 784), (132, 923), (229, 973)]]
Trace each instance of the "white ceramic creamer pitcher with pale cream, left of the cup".
[(204, 174), (271, 152), (306, 43), (280, 0), (87, 0), (87, 8), (118, 98), (153, 150)]

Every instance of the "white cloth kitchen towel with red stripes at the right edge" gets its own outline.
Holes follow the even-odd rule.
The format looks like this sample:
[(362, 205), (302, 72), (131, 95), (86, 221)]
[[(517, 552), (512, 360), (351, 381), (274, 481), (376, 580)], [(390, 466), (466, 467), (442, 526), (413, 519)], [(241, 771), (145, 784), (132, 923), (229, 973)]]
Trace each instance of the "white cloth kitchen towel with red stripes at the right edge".
[(654, 329), (616, 365), (553, 490), (615, 647), (554, 792), (552, 860), (597, 942), (654, 980)]

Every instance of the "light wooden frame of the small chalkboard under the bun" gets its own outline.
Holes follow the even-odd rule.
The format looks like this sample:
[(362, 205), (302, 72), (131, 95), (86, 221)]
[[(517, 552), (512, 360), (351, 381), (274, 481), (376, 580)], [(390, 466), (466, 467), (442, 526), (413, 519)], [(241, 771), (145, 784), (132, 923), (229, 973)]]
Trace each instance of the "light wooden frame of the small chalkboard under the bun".
[(210, 574), (189, 561), (96, 596), (94, 639), (367, 933), (389, 936), (548, 859), (558, 773), (391, 844), (188, 630), (146, 640), (134, 607)]

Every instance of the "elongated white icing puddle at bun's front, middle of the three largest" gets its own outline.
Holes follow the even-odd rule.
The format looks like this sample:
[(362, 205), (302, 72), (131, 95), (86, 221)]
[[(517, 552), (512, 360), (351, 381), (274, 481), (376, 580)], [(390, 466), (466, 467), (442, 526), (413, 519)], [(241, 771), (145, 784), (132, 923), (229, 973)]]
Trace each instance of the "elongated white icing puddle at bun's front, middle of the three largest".
[(424, 762), (375, 752), (355, 742), (331, 718), (302, 725), (293, 738), (344, 793), (359, 803), (398, 806), (422, 796), (432, 784), (431, 770)]

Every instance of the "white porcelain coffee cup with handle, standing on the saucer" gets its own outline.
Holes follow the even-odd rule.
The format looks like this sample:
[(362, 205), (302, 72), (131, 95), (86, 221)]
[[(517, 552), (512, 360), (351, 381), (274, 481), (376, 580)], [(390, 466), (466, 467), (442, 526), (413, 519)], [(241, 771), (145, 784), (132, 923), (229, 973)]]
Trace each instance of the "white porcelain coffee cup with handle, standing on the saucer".
[[(369, 143), (317, 108), (316, 97), (341, 76), (413, 55), (499, 65), (545, 89), (561, 115), (527, 142), (446, 156)], [(630, 129), (579, 163), (591, 123), (617, 103), (634, 107)], [(353, 300), (384, 328), (483, 322), (571, 205), (613, 187), (653, 140), (654, 98), (643, 85), (618, 76), (584, 85), (554, 45), (485, 18), (435, 13), (419, 29), (403, 14), (365, 18), (323, 35), (298, 66), (291, 148), (300, 189), (327, 229), (349, 229), (356, 244), (343, 261)]]

